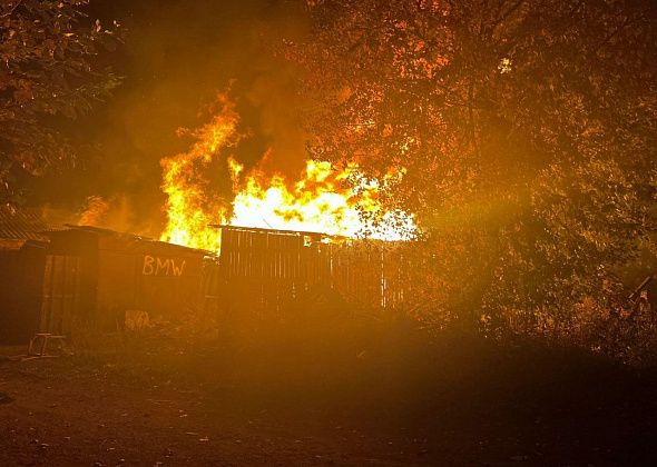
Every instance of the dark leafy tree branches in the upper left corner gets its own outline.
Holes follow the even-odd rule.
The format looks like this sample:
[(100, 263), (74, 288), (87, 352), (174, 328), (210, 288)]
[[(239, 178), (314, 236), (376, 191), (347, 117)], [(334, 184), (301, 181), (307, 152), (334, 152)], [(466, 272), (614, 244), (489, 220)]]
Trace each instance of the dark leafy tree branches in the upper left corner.
[(16, 201), (16, 176), (40, 175), (73, 158), (52, 125), (91, 110), (119, 83), (98, 63), (117, 27), (84, 13), (88, 0), (8, 0), (0, 4), (0, 198)]

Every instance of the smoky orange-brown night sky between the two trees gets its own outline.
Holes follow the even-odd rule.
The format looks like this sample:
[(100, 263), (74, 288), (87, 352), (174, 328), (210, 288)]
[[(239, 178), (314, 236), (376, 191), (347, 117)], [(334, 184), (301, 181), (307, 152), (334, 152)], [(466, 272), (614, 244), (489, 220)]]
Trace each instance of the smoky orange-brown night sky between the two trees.
[(40, 179), (37, 202), (71, 210), (98, 195), (129, 211), (127, 226), (155, 234), (164, 220), (163, 157), (186, 150), (180, 127), (207, 120), (202, 110), (231, 83), (242, 130), (235, 156), (255, 163), (273, 148), (282, 170), (304, 159), (295, 77), (268, 46), (305, 33), (294, 0), (92, 0), (90, 17), (117, 19), (128, 30), (107, 60), (125, 77), (107, 103), (71, 125), (87, 148), (75, 169)]

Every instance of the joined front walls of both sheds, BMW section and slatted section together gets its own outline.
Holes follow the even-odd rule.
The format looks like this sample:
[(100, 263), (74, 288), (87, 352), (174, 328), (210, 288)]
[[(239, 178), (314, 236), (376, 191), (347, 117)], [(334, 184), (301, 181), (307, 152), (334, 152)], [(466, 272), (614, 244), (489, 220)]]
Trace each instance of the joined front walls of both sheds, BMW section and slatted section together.
[[(324, 242), (320, 234), (224, 227), (217, 260), (105, 231), (56, 238), (41, 308), (41, 331), (55, 334), (70, 334), (78, 325), (117, 330), (129, 310), (146, 311), (151, 320), (207, 326), (226, 316), (276, 318), (291, 306), (298, 309), (300, 301), (312, 311), (333, 296), (359, 308), (391, 309), (408, 287), (403, 256), (390, 242)], [(86, 247), (73, 248), (80, 239)]]

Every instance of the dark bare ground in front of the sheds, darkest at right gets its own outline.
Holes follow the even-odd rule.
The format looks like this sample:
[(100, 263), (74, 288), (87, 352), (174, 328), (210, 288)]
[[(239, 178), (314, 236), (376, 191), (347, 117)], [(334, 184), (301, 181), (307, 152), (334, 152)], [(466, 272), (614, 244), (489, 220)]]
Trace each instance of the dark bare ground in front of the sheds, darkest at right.
[(102, 349), (0, 360), (0, 466), (657, 461), (655, 378), (570, 350), (391, 329)]

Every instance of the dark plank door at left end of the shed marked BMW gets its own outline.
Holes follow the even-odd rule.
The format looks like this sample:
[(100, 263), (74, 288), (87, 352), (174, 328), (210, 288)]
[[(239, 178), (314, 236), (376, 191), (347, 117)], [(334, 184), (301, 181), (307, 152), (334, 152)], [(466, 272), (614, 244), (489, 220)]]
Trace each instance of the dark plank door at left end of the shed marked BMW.
[(80, 258), (48, 255), (43, 274), (41, 332), (68, 335), (77, 311)]

